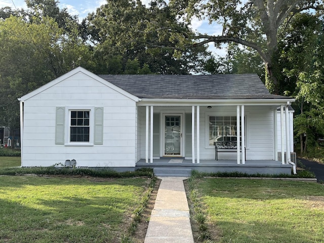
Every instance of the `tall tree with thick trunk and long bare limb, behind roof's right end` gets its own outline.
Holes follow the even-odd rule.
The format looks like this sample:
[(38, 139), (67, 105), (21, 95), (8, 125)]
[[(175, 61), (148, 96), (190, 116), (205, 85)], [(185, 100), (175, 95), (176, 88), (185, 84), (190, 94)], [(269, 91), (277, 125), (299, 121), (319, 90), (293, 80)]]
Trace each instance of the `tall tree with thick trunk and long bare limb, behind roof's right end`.
[(187, 22), (196, 16), (222, 25), (220, 35), (198, 33), (185, 36), (196, 40), (196, 46), (207, 43), (237, 43), (254, 49), (265, 63), (266, 86), (278, 94), (278, 33), (297, 13), (323, 10), (322, 1), (302, 0), (171, 0), (170, 6)]

